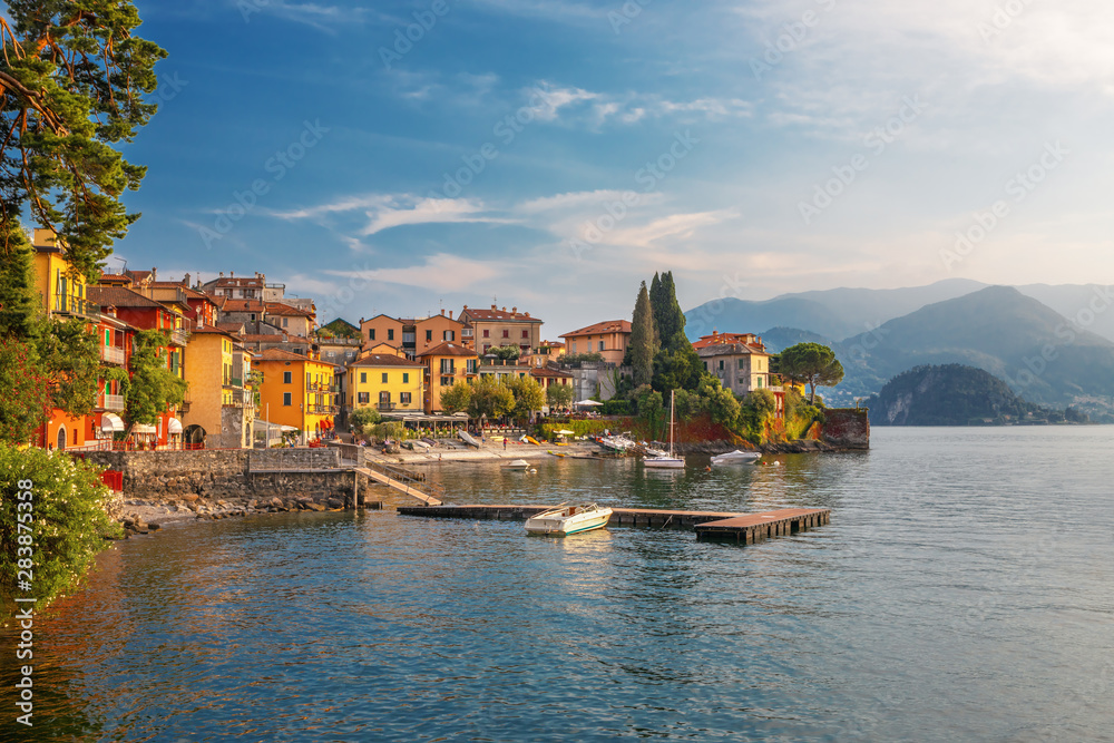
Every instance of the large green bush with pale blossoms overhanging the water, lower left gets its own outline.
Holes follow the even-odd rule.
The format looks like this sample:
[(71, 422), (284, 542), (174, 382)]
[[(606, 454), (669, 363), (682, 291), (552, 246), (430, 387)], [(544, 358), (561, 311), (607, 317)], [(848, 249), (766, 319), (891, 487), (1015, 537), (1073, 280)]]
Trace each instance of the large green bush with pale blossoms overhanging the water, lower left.
[[(30, 499), (20, 500), (28, 492)], [(20, 485), (23, 485), (21, 488)], [(105, 511), (110, 491), (99, 470), (67, 454), (43, 449), (18, 449), (0, 443), (0, 593), (4, 602), (33, 596), (41, 610), (80, 581), (94, 558), (105, 548), (105, 537), (120, 536), (120, 527)], [(30, 504), (30, 508), (23, 508)], [(30, 514), (31, 530), (20, 531), (19, 517)], [(26, 518), (26, 517), (25, 517)], [(31, 537), (28, 539), (28, 537)], [(26, 544), (26, 542), (31, 544)], [(30, 547), (30, 594), (17, 590), (20, 559)], [(26, 563), (22, 564), (26, 567)]]

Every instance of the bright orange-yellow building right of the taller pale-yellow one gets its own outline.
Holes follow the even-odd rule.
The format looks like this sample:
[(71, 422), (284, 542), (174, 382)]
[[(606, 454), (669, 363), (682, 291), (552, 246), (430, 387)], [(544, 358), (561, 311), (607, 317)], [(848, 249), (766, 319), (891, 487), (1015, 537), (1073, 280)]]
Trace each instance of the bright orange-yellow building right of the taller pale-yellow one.
[(262, 420), (296, 428), (304, 433), (305, 441), (333, 428), (333, 416), (338, 412), (333, 364), (270, 349), (256, 355), (252, 366), (263, 373)]

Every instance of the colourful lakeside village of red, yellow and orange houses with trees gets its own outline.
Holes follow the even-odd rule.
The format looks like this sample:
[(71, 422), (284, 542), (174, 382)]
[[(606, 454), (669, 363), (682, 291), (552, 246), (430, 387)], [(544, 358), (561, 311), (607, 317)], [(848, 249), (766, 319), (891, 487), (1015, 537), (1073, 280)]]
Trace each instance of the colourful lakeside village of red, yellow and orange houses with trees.
[(35, 431), (32, 443), (48, 450), (343, 439), (397, 452), (399, 442), (460, 429), (481, 440), (514, 430), (557, 443), (605, 431), (664, 441), (671, 391), (681, 447), (753, 448), (820, 439), (814, 387), (842, 378), (833, 358), (779, 374), (779, 359), (746, 332), (690, 343), (668, 273), (643, 285), (633, 321), (554, 341), (543, 340), (540, 317), (494, 304), (319, 327), (312, 299), (289, 296), (263, 274), (190, 284), (188, 274), (125, 270), (87, 283), (53, 233), (36, 229), (32, 245), (42, 309), (85, 323), (99, 356), (88, 411), (53, 407)]

